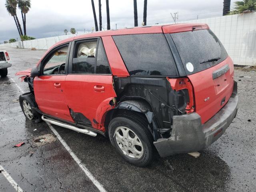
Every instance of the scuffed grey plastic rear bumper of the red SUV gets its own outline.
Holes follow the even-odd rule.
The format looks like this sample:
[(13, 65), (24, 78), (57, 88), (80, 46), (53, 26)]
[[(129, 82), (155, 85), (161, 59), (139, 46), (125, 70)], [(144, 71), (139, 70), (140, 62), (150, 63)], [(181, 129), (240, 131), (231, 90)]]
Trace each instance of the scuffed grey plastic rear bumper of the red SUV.
[(236, 117), (238, 110), (237, 84), (224, 107), (205, 124), (197, 113), (173, 116), (170, 138), (158, 139), (154, 146), (161, 157), (202, 150), (215, 142)]

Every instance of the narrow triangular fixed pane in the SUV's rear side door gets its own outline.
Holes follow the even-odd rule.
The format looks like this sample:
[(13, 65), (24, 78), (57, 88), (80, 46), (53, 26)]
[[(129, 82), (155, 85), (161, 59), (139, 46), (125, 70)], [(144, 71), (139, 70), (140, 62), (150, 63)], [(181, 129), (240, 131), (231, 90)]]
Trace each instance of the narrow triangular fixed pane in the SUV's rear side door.
[(99, 42), (97, 52), (96, 74), (111, 74), (108, 60), (102, 42)]

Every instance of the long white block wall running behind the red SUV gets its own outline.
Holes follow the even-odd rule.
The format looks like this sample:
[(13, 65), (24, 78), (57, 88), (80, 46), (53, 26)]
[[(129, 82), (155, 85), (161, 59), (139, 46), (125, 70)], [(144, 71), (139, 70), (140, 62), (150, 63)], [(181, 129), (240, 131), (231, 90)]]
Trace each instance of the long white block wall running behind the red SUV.
[[(192, 22), (207, 23), (226, 48), (234, 64), (256, 66), (256, 13), (219, 16), (183, 23)], [(47, 50), (56, 42), (72, 36), (76, 35), (28, 40), (23, 42), (23, 46)], [(22, 42), (0, 44), (0, 47), (6, 46), (22, 48)]]

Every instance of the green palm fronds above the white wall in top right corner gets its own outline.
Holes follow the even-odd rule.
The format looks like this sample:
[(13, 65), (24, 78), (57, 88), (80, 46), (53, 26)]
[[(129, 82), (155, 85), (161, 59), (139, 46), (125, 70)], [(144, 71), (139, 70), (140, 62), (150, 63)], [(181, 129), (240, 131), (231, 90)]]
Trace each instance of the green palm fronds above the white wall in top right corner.
[(235, 8), (230, 14), (252, 13), (256, 12), (256, 0), (243, 0), (234, 2)]

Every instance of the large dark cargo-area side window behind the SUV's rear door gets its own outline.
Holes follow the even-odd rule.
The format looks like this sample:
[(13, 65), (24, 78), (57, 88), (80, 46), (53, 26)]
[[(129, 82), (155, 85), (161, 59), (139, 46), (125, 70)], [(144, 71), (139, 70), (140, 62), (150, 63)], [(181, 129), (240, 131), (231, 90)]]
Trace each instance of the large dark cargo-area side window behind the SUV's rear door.
[(130, 75), (177, 75), (164, 34), (118, 35), (113, 39)]

